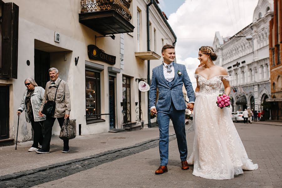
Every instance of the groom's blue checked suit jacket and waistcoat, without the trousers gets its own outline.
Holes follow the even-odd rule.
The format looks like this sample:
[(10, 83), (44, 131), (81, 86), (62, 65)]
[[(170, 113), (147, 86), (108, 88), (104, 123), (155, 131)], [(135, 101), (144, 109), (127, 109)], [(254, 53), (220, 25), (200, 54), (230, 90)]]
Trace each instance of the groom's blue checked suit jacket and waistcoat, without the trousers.
[[(161, 64), (153, 69), (149, 93), (150, 107), (155, 106), (157, 111), (168, 111), (171, 102), (173, 102), (176, 110), (185, 110), (186, 103), (182, 92), (183, 83), (187, 91), (189, 102), (195, 102), (194, 90), (187, 74), (186, 67), (185, 65), (173, 62), (175, 72), (174, 80), (167, 82), (165, 80), (163, 66), (164, 65)], [(178, 75), (178, 71), (180, 71), (182, 75)], [(155, 105), (157, 87), (159, 88), (159, 98), (157, 105)]]

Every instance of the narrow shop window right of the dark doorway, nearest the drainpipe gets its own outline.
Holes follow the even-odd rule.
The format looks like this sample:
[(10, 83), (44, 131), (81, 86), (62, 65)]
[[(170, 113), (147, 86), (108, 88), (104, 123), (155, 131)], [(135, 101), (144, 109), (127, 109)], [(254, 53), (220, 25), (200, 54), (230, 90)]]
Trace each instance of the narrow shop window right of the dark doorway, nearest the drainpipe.
[(131, 122), (130, 77), (123, 76), (123, 123)]

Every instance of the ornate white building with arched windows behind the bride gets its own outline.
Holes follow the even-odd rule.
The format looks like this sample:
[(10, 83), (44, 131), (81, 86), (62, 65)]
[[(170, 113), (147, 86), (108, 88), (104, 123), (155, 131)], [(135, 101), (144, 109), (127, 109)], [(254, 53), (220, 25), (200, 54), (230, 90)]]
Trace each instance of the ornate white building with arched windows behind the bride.
[(269, 21), (272, 16), (273, 1), (259, 0), (253, 23), (232, 37), (215, 34), (213, 48), (218, 56), (215, 63), (233, 76), (230, 97), (235, 112), (247, 107), (261, 111), (270, 97)]

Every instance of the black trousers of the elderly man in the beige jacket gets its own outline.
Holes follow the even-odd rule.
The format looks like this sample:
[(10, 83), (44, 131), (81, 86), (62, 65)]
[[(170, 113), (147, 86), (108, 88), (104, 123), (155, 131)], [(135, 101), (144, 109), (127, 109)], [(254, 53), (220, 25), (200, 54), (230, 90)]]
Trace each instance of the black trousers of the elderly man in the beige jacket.
[[(62, 128), (64, 123), (64, 117), (57, 118), (58, 122), (60, 124), (60, 127)], [(42, 143), (42, 149), (45, 151), (50, 151), (50, 142), (52, 137), (52, 127), (54, 125), (56, 118), (48, 117), (46, 118), (44, 122), (44, 139)], [(69, 140), (64, 140), (64, 149), (69, 150)]]

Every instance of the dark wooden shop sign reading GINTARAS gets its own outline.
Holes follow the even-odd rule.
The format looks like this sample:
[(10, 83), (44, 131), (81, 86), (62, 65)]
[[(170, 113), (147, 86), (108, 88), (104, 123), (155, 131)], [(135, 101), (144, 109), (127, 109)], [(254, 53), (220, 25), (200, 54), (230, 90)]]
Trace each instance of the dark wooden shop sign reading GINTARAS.
[(88, 57), (91, 60), (100, 60), (111, 65), (116, 64), (116, 56), (108, 55), (103, 50), (99, 49), (97, 46), (91, 44), (88, 45)]

